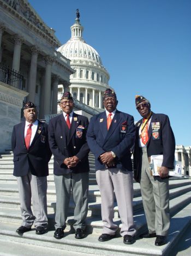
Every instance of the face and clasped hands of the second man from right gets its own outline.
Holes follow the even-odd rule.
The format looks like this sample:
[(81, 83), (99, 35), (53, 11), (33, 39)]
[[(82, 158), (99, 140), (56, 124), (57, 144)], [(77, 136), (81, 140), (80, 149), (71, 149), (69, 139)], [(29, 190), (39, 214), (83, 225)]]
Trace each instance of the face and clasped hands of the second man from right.
[[(118, 104), (118, 100), (115, 97), (105, 97), (104, 98), (104, 107), (109, 113), (116, 110), (117, 104)], [(102, 163), (106, 165), (106, 167), (115, 166), (115, 161), (114, 161), (115, 158), (112, 156), (111, 151), (104, 152), (99, 157), (100, 157), (100, 160), (102, 161)]]

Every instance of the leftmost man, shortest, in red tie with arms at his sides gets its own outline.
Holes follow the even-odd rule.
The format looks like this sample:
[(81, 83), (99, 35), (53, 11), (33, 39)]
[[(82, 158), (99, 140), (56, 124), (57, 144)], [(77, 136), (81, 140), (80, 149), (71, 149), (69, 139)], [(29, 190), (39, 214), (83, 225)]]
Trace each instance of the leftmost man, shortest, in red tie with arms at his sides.
[(13, 175), (17, 177), (23, 220), (16, 232), (22, 234), (29, 231), (34, 223), (36, 234), (41, 235), (47, 227), (46, 177), (49, 175), (48, 163), (52, 153), (47, 124), (37, 120), (35, 105), (28, 101), (23, 112), (26, 121), (14, 126), (11, 140), (14, 153)]

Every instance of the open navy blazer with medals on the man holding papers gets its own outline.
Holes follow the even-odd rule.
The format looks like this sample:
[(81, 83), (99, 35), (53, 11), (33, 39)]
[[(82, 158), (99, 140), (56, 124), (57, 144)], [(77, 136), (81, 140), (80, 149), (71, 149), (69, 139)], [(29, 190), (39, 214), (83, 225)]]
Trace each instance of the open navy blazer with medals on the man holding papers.
[[(141, 150), (139, 147), (139, 129), (142, 119), (136, 123), (136, 139), (134, 147), (134, 179), (140, 182), (141, 178)], [(154, 128), (154, 123), (158, 123), (158, 128)], [(152, 128), (153, 126), (153, 128)], [(164, 114), (152, 113), (150, 126), (148, 127), (147, 156), (163, 155), (162, 166), (169, 169), (174, 168), (175, 160), (175, 136), (170, 126), (169, 117)]]

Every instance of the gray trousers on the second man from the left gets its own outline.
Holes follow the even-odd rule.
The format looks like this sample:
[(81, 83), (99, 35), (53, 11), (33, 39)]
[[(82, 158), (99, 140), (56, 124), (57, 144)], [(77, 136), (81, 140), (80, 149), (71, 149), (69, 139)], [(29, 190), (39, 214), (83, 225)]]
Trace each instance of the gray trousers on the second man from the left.
[(69, 173), (61, 176), (55, 175), (56, 186), (56, 215), (55, 229), (65, 229), (65, 221), (68, 217), (70, 194), (73, 192), (75, 203), (74, 229), (85, 230), (85, 219), (88, 209), (88, 183), (89, 173)]

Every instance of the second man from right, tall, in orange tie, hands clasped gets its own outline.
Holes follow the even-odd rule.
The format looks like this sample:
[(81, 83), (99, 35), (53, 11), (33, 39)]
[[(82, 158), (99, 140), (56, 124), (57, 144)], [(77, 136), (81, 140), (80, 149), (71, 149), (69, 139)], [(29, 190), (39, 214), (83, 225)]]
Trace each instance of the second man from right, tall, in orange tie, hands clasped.
[(96, 179), (102, 197), (103, 234), (100, 242), (116, 234), (114, 223), (114, 191), (122, 221), (123, 242), (135, 242), (133, 222), (133, 173), (130, 148), (135, 140), (133, 116), (116, 110), (116, 94), (111, 89), (104, 93), (105, 111), (89, 122), (87, 142), (96, 158)]

